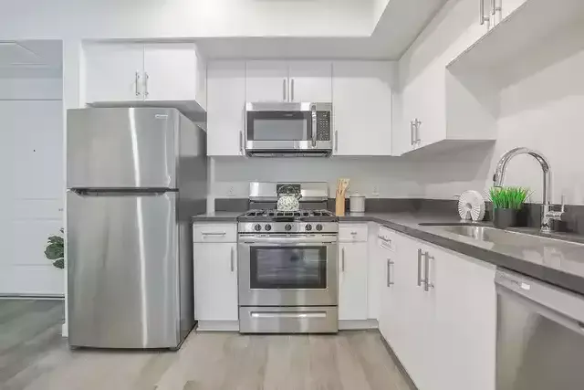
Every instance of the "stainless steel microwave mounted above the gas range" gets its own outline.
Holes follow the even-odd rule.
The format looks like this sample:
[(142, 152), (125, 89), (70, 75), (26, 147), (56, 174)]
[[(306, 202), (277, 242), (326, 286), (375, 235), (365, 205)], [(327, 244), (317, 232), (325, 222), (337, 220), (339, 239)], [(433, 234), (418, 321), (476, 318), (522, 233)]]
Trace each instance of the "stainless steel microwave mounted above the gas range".
[(332, 103), (246, 103), (245, 154), (328, 156), (331, 117)]

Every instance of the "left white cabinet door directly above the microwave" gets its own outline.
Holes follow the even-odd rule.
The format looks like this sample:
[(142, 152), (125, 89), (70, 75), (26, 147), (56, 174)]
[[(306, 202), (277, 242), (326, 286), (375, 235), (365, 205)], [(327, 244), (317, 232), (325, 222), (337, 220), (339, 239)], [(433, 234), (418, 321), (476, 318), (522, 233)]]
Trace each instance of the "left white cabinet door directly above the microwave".
[(288, 65), (286, 61), (247, 61), (245, 68), (247, 101), (288, 100)]

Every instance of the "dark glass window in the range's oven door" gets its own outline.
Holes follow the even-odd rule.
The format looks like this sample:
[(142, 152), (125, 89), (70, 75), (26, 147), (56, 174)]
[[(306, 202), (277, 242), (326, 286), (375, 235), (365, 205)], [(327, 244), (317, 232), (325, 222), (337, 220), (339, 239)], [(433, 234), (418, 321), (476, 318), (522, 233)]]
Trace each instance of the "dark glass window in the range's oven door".
[(250, 248), (252, 289), (327, 288), (327, 248)]

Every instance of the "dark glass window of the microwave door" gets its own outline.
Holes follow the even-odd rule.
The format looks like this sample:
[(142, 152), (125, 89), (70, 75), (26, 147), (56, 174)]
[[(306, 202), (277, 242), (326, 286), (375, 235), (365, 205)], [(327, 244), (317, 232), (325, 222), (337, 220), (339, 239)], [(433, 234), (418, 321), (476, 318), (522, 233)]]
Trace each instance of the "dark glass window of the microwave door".
[(309, 112), (253, 111), (247, 113), (248, 141), (306, 141), (312, 123)]

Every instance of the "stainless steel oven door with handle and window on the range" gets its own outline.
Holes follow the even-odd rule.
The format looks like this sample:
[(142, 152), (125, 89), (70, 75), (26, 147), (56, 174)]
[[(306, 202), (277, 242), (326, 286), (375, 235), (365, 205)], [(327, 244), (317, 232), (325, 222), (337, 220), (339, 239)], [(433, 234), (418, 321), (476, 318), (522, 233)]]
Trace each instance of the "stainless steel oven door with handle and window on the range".
[(335, 306), (337, 237), (240, 237), (240, 306)]

